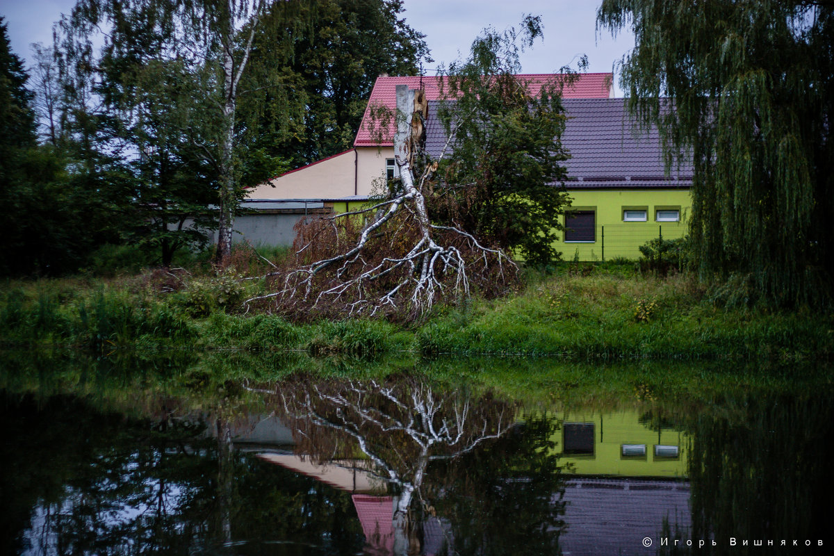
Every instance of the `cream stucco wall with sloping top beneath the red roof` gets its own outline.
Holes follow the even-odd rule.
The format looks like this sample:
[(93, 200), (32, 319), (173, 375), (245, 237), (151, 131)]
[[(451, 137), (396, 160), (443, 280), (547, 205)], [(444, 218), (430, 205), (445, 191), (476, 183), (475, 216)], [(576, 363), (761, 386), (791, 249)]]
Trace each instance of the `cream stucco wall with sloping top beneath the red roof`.
[(250, 199), (336, 199), (369, 195), (393, 148), (356, 148), (324, 158), (249, 191)]

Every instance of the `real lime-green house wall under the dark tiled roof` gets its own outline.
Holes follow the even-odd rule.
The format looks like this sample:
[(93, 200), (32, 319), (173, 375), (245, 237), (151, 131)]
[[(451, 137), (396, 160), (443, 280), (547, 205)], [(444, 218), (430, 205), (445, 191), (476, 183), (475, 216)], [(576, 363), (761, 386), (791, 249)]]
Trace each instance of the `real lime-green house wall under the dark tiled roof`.
[[(643, 243), (657, 238), (681, 238), (686, 235), (692, 201), (689, 189), (568, 189), (570, 208), (595, 211), (593, 243), (565, 242), (565, 234), (556, 243), (562, 258), (570, 261), (578, 254), (580, 261), (610, 260), (615, 257), (640, 258)], [(680, 210), (679, 222), (657, 222), (656, 212)], [(646, 222), (624, 222), (623, 211), (646, 210)], [(565, 217), (562, 217), (565, 223)]]

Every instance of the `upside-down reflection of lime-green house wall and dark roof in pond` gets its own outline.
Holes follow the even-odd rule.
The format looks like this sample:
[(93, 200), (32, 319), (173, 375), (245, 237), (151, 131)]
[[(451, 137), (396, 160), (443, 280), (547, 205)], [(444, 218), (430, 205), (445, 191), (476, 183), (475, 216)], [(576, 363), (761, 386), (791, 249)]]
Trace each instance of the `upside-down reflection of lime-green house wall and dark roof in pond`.
[(690, 487), (682, 480), (684, 433), (635, 410), (558, 417), (554, 440), (568, 477), (562, 553), (650, 554), (665, 523), (671, 533), (686, 534), (691, 518)]

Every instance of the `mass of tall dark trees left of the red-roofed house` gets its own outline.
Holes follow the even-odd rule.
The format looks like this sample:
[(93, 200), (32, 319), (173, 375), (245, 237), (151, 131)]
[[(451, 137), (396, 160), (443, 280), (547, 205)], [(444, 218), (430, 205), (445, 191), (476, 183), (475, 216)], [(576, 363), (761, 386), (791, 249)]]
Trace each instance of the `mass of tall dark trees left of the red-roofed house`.
[(114, 244), (169, 266), (213, 206), (230, 233), (245, 187), (349, 144), (374, 78), (427, 53), (398, 0), (244, 4), (80, 0), (33, 79), (4, 32), (0, 273), (98, 268)]

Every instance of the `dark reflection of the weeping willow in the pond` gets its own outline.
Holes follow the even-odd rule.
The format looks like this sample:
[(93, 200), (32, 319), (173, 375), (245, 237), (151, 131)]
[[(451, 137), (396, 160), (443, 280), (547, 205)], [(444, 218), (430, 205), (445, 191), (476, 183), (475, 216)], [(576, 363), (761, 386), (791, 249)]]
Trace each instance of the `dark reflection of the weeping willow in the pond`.
[(817, 540), (829, 536), (834, 492), (831, 392), (728, 393), (718, 407), (683, 418), (691, 438), (691, 538), (715, 538), (721, 553), (733, 537), (732, 553), (761, 552), (752, 545), (761, 539), (777, 546), (810, 539), (818, 551)]

